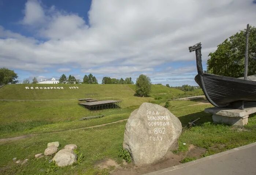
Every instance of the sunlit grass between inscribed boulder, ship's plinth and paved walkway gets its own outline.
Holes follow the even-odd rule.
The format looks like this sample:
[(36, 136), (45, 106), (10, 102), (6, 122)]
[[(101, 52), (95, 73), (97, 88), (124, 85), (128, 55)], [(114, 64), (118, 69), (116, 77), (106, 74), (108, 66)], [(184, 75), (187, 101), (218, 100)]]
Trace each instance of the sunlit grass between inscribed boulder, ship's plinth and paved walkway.
[(207, 149), (204, 156), (250, 144), (256, 141), (256, 115), (249, 117), (248, 131), (225, 124), (214, 124), (210, 120), (182, 132), (179, 141)]

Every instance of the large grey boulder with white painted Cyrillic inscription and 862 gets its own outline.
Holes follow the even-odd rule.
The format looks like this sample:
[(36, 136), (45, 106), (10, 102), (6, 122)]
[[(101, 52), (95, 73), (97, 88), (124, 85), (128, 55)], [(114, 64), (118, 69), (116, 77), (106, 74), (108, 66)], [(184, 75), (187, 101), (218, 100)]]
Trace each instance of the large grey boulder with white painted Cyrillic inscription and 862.
[(177, 149), (181, 130), (181, 122), (168, 109), (143, 103), (127, 120), (123, 148), (137, 165), (155, 163)]

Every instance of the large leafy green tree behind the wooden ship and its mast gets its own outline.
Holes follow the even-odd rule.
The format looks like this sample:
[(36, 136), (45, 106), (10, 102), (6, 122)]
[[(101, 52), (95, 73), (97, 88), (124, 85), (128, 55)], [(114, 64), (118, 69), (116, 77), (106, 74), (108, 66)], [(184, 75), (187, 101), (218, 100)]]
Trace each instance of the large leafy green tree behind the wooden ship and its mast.
[[(209, 53), (207, 72), (227, 77), (244, 76), (246, 29), (229, 37), (218, 45), (214, 53)], [(248, 75), (256, 74), (256, 27), (250, 26)]]

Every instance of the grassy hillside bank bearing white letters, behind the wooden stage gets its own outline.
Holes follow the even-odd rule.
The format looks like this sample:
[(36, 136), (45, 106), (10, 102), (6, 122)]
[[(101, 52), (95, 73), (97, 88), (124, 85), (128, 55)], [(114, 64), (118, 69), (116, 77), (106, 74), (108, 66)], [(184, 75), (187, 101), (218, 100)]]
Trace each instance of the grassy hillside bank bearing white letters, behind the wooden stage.
[[(25, 89), (25, 87), (63, 87), (64, 89)], [(70, 89), (77, 86), (79, 89)], [(134, 91), (127, 85), (89, 85), (89, 84), (17, 84), (6, 85), (0, 89), (0, 99), (50, 100), (84, 98), (86, 93), (99, 93), (100, 97), (128, 97)]]

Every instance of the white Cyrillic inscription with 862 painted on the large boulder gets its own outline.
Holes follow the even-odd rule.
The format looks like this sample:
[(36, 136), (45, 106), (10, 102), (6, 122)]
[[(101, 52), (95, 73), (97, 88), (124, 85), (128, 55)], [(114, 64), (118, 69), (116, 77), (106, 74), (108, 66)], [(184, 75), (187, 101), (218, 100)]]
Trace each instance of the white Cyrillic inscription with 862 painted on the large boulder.
[(170, 120), (169, 116), (159, 115), (158, 111), (146, 111), (148, 118), (148, 126), (152, 129), (148, 130), (149, 140), (150, 141), (162, 141), (164, 139), (164, 134), (166, 134), (166, 129), (164, 126), (170, 126), (168, 120)]

